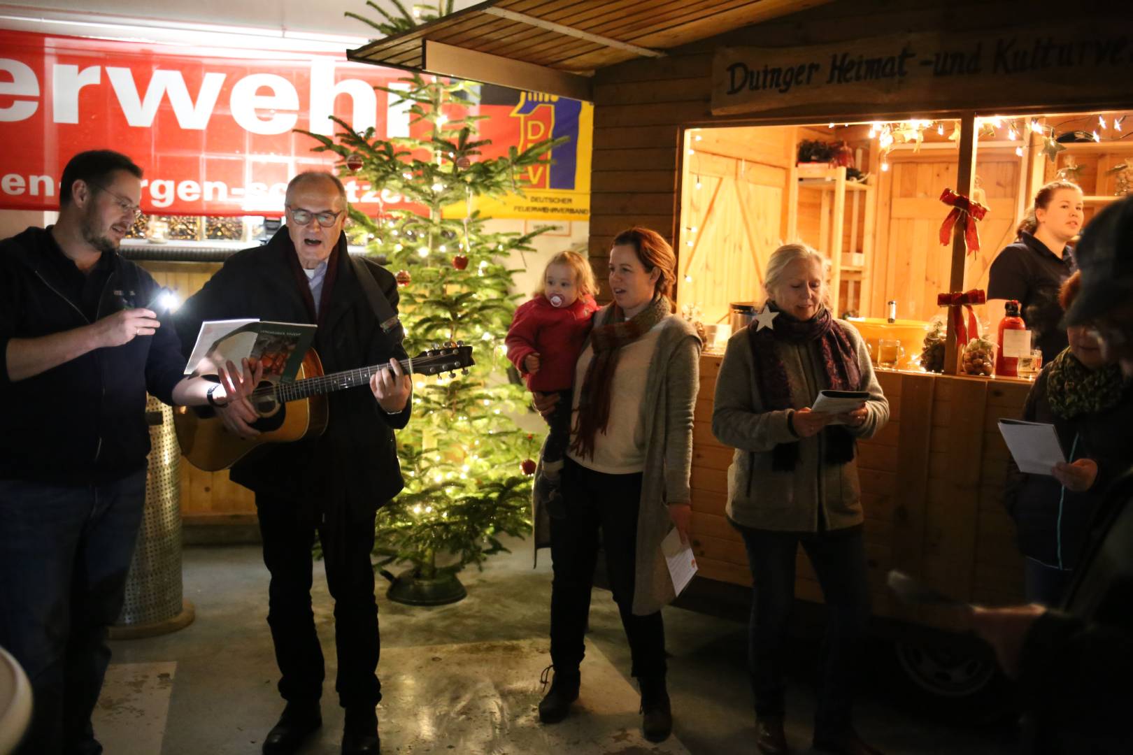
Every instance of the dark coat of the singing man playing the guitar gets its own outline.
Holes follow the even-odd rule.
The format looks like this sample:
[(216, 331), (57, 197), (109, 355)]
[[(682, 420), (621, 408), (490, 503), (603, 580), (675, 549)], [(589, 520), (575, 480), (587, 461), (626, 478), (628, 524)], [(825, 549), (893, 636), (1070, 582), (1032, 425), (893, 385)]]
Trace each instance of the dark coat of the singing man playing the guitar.
[[(350, 263), (344, 235), (339, 239), (338, 251), (331, 300), (324, 304), (327, 309), (322, 312), (322, 324), (315, 334), (315, 350), (324, 371), (404, 359), (401, 343), (378, 326)], [(185, 351), (191, 351), (203, 320), (258, 317), (313, 323), (288, 257), (295, 254), (284, 226), (267, 244), (230, 257), (177, 311)], [(364, 265), (397, 308), (393, 275), (368, 259)], [(372, 516), (403, 487), (393, 431), (409, 421), (410, 406), (399, 414), (386, 414), (368, 386), (326, 397), (330, 421), (321, 437), (265, 446), (235, 464), (231, 479), (257, 494), (303, 501), (323, 512), (334, 507), (356, 517)]]

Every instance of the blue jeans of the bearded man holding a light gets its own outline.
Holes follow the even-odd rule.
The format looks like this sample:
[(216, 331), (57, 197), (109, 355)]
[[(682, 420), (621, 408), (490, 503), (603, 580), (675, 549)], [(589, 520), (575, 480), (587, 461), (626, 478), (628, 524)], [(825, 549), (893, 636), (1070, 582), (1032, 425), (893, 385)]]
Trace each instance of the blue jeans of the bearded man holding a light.
[(144, 504), (145, 470), (85, 488), (0, 480), (0, 645), (34, 695), (18, 752), (102, 752), (91, 712)]

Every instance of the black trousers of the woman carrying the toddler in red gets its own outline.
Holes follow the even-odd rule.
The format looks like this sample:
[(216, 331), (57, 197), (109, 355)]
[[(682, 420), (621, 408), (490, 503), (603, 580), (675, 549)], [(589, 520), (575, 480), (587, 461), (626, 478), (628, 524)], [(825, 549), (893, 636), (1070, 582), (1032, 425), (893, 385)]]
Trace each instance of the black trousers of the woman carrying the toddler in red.
[(598, 560), (598, 533), (614, 602), (630, 643), (632, 676), (665, 676), (665, 627), (661, 611), (636, 616), (633, 570), (641, 473), (604, 474), (566, 457), (562, 494), (566, 516), (551, 521), (551, 661), (560, 670), (578, 669), (586, 652), (583, 635)]

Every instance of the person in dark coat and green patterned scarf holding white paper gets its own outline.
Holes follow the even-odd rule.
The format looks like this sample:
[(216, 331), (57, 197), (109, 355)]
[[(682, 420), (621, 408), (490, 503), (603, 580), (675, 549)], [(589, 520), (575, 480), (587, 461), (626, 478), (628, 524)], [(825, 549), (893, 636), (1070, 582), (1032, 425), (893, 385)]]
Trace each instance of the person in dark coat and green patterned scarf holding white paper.
[[(1068, 309), (1081, 288), (1074, 273), (1059, 301)], [(1023, 419), (1055, 426), (1068, 463), (1050, 475), (1024, 474), (1007, 462), (1004, 504), (1015, 520), (1026, 600), (1057, 607), (1070, 586), (1093, 512), (1109, 483), (1133, 463), (1133, 386), (1106, 363), (1092, 332), (1066, 328), (1070, 346), (1042, 368)]]

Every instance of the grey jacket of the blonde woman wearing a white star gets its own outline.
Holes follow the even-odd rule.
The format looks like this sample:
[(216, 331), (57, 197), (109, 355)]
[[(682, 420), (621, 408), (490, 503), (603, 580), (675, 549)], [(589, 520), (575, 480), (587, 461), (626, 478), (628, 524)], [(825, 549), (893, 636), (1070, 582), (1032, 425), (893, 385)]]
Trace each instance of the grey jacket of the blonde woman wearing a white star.
[[(850, 431), (859, 438), (870, 438), (888, 422), (889, 402), (874, 375), (861, 335), (845, 320), (835, 323), (845, 332), (858, 354), (861, 384), (857, 389), (870, 394), (866, 402), (866, 422)], [(857, 461), (845, 464), (823, 462), (825, 434), (800, 439), (787, 423), (794, 409), (812, 405), (818, 392), (826, 387), (817, 342), (774, 342), (786, 368), (794, 407), (777, 411), (767, 411), (764, 406), (750, 343), (746, 329), (729, 340), (716, 378), (712, 431), (721, 443), (736, 449), (727, 469), (729, 518), (758, 530), (816, 532), (818, 507), (821, 506), (830, 530), (861, 524)], [(799, 461), (794, 470), (772, 470), (775, 446), (794, 441), (799, 441)]]

